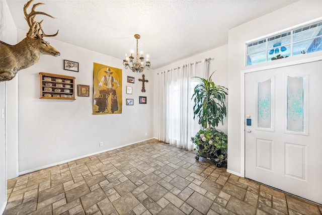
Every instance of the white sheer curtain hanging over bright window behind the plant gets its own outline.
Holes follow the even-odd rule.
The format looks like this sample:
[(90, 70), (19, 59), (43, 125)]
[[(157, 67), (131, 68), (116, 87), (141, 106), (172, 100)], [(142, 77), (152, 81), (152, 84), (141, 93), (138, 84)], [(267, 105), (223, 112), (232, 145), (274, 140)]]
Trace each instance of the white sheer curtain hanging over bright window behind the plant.
[(200, 129), (193, 119), (191, 97), (198, 80), (209, 77), (209, 60), (188, 63), (159, 73), (159, 132), (158, 139), (192, 150), (191, 137)]

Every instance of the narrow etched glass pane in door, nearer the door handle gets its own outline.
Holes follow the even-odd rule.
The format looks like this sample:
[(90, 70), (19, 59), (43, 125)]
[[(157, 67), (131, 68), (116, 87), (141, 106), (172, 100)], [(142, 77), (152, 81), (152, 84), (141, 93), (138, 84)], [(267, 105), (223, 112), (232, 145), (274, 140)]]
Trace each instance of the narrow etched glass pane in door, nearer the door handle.
[(272, 79), (258, 83), (257, 127), (271, 128)]

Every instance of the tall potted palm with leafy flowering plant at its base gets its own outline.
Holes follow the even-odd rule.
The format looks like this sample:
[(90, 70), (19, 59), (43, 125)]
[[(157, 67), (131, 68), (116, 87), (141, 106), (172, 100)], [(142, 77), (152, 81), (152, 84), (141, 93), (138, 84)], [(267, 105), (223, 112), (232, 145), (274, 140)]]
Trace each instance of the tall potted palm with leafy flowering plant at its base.
[(225, 100), (227, 88), (216, 86), (211, 77), (198, 78), (201, 83), (194, 89), (194, 119), (198, 117), (198, 123), (202, 129), (197, 132), (191, 141), (196, 145), (196, 159), (204, 157), (215, 160), (217, 167), (221, 167), (227, 161), (227, 134), (218, 130), (219, 123), (223, 125), (223, 118), (227, 115)]

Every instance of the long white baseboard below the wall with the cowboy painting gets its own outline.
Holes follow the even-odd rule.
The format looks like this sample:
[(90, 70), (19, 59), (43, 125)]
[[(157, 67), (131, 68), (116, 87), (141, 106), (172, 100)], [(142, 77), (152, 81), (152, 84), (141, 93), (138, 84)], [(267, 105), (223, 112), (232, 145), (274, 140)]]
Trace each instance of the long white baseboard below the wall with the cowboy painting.
[(154, 138), (155, 137), (151, 137), (151, 138), (148, 138), (148, 139), (143, 139), (143, 140), (140, 140), (140, 141), (131, 142), (130, 144), (122, 145), (122, 146), (119, 146), (119, 147), (114, 147), (114, 148), (111, 148), (111, 149), (95, 152), (95, 153), (92, 153), (92, 154), (88, 154), (88, 155), (84, 155), (84, 156), (80, 156), (80, 157), (76, 157), (76, 158), (71, 158), (71, 159), (64, 160), (64, 161), (60, 161), (60, 162), (57, 162), (57, 163), (54, 163), (54, 164), (48, 164), (46, 166), (37, 167), (37, 168), (34, 168), (34, 169), (22, 171), (22, 172), (19, 172), (19, 175), (24, 175), (24, 174), (27, 174), (27, 173), (31, 173), (31, 172), (35, 172), (35, 171), (38, 171), (38, 170), (46, 169), (46, 168), (53, 167), (53, 166), (56, 166), (56, 165), (65, 164), (67, 162), (71, 162), (71, 161), (75, 161), (75, 160), (78, 160), (78, 159), (86, 158), (86, 157), (89, 157), (89, 156), (92, 156), (92, 155), (96, 155), (96, 154), (100, 154), (100, 153), (120, 149), (122, 147), (127, 147), (127, 146), (130, 146), (130, 145), (133, 145), (133, 144), (138, 144), (139, 142), (146, 141), (146, 140), (149, 140), (149, 139), (154, 139)]

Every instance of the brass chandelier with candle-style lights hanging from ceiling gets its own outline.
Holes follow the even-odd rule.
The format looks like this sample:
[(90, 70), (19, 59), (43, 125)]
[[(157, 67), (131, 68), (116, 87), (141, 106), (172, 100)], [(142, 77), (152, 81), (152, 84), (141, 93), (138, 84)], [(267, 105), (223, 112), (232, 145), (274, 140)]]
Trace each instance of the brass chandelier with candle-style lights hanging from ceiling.
[[(144, 60), (144, 57), (143, 57), (143, 54), (141, 52), (141, 56), (139, 57), (139, 53), (138, 53), (138, 39), (140, 39), (140, 35), (138, 34), (135, 34), (134, 35), (135, 39), (136, 39), (136, 61), (134, 62), (133, 59), (133, 53), (131, 53), (131, 56), (127, 57), (127, 55), (125, 54), (125, 59), (123, 60), (123, 65), (125, 65), (125, 68), (130, 68), (132, 69), (133, 73), (142, 73), (142, 71), (147, 68), (147, 69), (150, 69), (150, 61), (149, 61), (149, 57), (147, 57), (147, 60), (145, 62), (145, 64), (143, 65), (143, 60)], [(130, 59), (130, 63), (132, 63), (132, 66), (129, 64), (129, 60), (128, 58)]]

